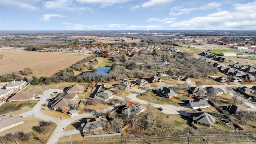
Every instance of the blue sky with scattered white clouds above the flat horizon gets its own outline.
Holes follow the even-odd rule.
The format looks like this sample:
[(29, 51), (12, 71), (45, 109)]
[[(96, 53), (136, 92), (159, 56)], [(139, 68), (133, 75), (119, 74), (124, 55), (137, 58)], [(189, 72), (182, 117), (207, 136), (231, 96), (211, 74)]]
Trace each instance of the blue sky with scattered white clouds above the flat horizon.
[(256, 30), (256, 0), (0, 0), (1, 30)]

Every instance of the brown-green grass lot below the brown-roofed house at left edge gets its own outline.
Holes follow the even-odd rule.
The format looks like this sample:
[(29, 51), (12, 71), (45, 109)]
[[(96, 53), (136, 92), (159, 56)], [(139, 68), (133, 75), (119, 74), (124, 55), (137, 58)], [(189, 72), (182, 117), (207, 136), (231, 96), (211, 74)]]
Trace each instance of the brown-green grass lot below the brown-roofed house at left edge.
[(29, 112), (37, 104), (37, 100), (31, 102), (6, 102), (0, 107), (0, 114), (11, 113), (13, 115)]

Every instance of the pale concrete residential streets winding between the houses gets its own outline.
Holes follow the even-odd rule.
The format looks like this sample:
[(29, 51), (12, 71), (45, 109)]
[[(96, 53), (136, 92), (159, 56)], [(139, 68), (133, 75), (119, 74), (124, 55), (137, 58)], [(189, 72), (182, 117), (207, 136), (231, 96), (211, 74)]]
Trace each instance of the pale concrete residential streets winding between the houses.
[[(173, 85), (166, 85), (166, 84), (163, 84), (164, 86), (173, 86)], [(208, 85), (205, 85), (205, 86), (208, 86)], [(212, 86), (212, 85), (210, 85)], [(236, 85), (218, 85), (216, 87), (219, 87), (219, 88), (226, 88), (226, 87), (230, 87), (230, 86), (236, 86)], [(69, 136), (70, 134), (79, 134), (80, 133), (80, 130), (69, 130), (69, 131), (64, 131), (64, 128), (66, 128), (69, 124), (71, 124), (72, 122), (76, 121), (76, 120), (79, 120), (79, 119), (82, 119), (84, 117), (88, 117), (88, 116), (93, 116), (93, 115), (96, 115), (98, 113), (98, 111), (93, 111), (93, 112), (88, 112), (88, 113), (84, 113), (84, 114), (79, 114), (79, 115), (76, 115), (76, 116), (72, 116), (72, 118), (69, 118), (69, 119), (58, 119), (58, 118), (53, 118), (51, 116), (47, 116), (47, 115), (44, 115), (42, 114), (41, 112), (41, 108), (42, 106), (45, 104), (46, 100), (50, 98), (51, 94), (53, 92), (62, 92), (62, 90), (59, 90), (59, 89), (50, 89), (50, 90), (45, 90), (43, 92), (43, 97), (41, 98), (41, 100), (34, 106), (34, 108), (32, 109), (32, 114), (37, 117), (37, 118), (40, 118), (42, 120), (46, 120), (46, 121), (52, 121), (54, 123), (56, 123), (57, 127), (56, 129), (54, 130), (54, 132), (52, 133), (52, 135), (50, 136), (47, 144), (58, 144), (58, 141), (60, 140), (61, 137), (64, 137), (64, 136)], [(130, 98), (131, 100), (133, 101), (137, 101), (137, 102), (140, 102), (142, 104), (148, 104), (147, 101), (145, 100), (140, 100), (138, 99), (136, 96), (138, 94), (141, 94), (143, 92), (146, 92), (146, 90), (142, 90), (140, 92), (133, 92), (133, 91), (129, 91), (131, 94), (128, 96), (128, 98)], [(233, 95), (232, 93), (230, 93), (231, 95)], [(114, 96), (115, 98), (119, 98), (119, 99), (122, 99), (122, 97), (119, 97), (119, 96)], [(239, 99), (239, 98), (238, 98)], [(254, 106), (253, 104), (250, 104), (248, 102), (244, 102), (246, 104), (249, 104), (251, 105), (251, 108), (250, 110), (256, 110), (256, 106)], [(114, 105), (114, 106), (117, 106), (118, 104)], [(173, 105), (168, 105), (168, 104), (154, 104), (154, 103), (151, 103), (152, 106), (156, 107), (156, 108), (159, 108), (161, 107), (163, 110), (162, 112), (163, 113), (166, 113), (166, 114), (179, 114), (177, 111), (181, 111), (181, 110), (188, 110), (188, 109), (191, 109), (190, 106), (173, 106)], [(114, 109), (114, 106), (110, 106), (106, 109)], [(105, 109), (105, 110), (106, 110)]]

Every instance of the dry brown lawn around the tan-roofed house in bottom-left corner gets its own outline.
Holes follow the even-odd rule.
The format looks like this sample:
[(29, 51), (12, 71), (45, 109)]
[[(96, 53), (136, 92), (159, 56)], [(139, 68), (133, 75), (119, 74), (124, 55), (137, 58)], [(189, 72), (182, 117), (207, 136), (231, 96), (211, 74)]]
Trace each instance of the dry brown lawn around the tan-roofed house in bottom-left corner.
[[(47, 133), (46, 133), (46, 135), (47, 136), (45, 136), (44, 134), (39, 134), (38, 132), (35, 132), (35, 131), (33, 131), (32, 130), (32, 127), (33, 126), (38, 126), (39, 125), (39, 121), (41, 121), (41, 119), (38, 119), (38, 118), (36, 118), (36, 117), (34, 117), (34, 116), (28, 116), (28, 117), (25, 117), (24, 118), (24, 120), (25, 120), (25, 123), (24, 124), (21, 124), (21, 125), (19, 125), (19, 126), (16, 126), (16, 127), (14, 127), (14, 128), (11, 128), (11, 129), (9, 129), (9, 130), (5, 130), (4, 132), (1, 132), (1, 134), (0, 134), (0, 136), (3, 136), (4, 134), (7, 134), (7, 133), (12, 133), (12, 134), (14, 134), (15, 132), (19, 132), (19, 131), (23, 131), (23, 132), (25, 132), (25, 133), (30, 133), (30, 132), (32, 132), (33, 134), (35, 134), (38, 138), (41, 138), (44, 142), (47, 142), (47, 140), (50, 138), (50, 136), (51, 136), (51, 134), (52, 134), (52, 132), (54, 131), (54, 129), (56, 128), (56, 125), (53, 127), (53, 128), (51, 128)], [(35, 140), (34, 139), (34, 135), (32, 134), (32, 137), (31, 137), (31, 139), (30, 139), (30, 142), (31, 142), (31, 144), (36, 144), (36, 143), (41, 143), (40, 141), (38, 141), (38, 140)], [(25, 144), (25, 143), (27, 143), (27, 142), (19, 142), (19, 144)], [(14, 144), (14, 143), (12, 143), (12, 144)]]

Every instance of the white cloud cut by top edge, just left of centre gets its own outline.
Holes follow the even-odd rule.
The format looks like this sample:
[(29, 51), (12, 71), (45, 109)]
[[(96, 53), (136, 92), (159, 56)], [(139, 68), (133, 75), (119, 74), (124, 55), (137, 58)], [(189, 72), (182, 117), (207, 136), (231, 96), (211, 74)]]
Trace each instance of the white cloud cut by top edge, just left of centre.
[(131, 0), (76, 0), (76, 1), (81, 3), (89, 3), (89, 4), (101, 4), (100, 7), (104, 8), (107, 6), (113, 6), (114, 4), (123, 4)]

